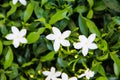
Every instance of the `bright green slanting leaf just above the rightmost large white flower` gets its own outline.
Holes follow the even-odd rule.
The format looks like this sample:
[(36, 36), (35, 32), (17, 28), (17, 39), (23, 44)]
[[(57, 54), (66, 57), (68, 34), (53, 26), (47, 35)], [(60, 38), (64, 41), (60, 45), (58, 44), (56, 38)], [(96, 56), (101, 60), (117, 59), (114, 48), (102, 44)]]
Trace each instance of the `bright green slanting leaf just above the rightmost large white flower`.
[(84, 17), (84, 19), (86, 20), (86, 24), (87, 24), (87, 27), (89, 28), (90, 32), (95, 33), (98, 37), (100, 37), (101, 34), (100, 34), (97, 26), (95, 25), (95, 23), (85, 17)]

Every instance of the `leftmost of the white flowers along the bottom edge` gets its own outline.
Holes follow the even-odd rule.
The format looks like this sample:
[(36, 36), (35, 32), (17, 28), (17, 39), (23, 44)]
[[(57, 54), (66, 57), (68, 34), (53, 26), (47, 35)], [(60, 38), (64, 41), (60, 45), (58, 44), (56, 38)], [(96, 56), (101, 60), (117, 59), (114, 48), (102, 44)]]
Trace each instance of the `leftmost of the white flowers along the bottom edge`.
[(55, 68), (51, 67), (50, 71), (43, 71), (43, 74), (47, 76), (45, 80), (58, 80), (57, 77), (61, 75), (61, 72), (55, 72)]

